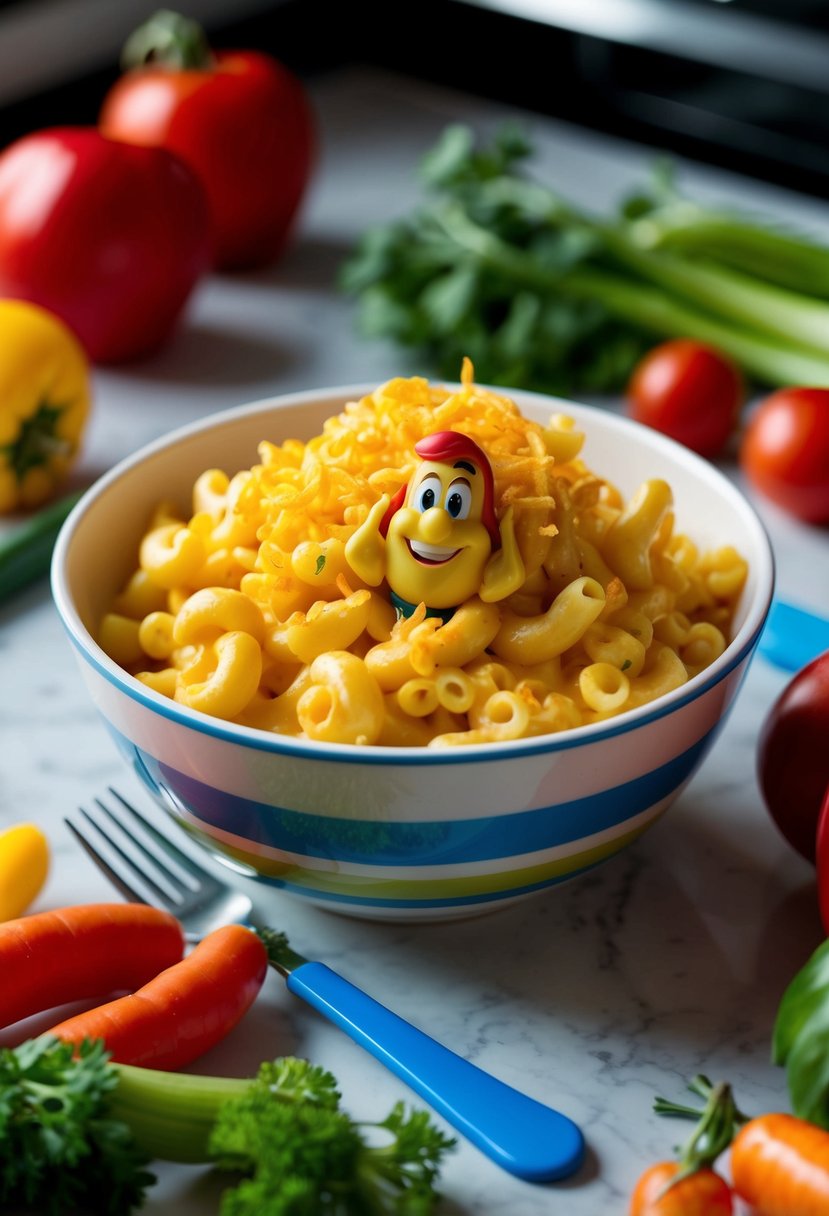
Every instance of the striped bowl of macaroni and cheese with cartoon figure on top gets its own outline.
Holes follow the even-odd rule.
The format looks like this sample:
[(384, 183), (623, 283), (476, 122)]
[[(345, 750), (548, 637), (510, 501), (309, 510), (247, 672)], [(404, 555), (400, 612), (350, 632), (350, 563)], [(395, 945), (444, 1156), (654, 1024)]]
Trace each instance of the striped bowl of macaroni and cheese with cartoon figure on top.
[[(421, 457), (435, 432), (484, 456)], [(497, 908), (633, 843), (711, 747), (772, 584), (714, 466), (468, 366), (174, 432), (86, 492), (52, 564), (159, 804), (264, 883), (380, 919)]]

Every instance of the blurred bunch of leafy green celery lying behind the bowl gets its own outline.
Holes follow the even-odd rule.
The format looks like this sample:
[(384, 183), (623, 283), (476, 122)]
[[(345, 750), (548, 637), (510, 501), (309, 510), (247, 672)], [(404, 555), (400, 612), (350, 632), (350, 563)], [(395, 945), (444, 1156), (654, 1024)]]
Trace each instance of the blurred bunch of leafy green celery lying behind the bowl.
[(363, 333), (445, 376), (553, 393), (619, 390), (662, 337), (754, 381), (829, 387), (829, 248), (682, 197), (660, 171), (591, 215), (525, 171), (526, 137), (447, 128), (424, 199), (365, 233), (343, 268)]

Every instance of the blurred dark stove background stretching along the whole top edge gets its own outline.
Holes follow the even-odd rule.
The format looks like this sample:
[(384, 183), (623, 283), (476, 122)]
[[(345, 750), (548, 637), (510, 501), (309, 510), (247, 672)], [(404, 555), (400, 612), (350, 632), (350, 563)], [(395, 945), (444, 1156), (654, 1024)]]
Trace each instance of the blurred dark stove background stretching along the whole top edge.
[[(140, 10), (160, 6), (0, 0), (0, 67), (12, 46), (6, 26), (19, 32), (21, 23), (60, 21), (64, 32), (51, 45), (69, 46), (73, 32), (84, 45), (96, 5), (111, 45), (98, 38), (95, 56), (84, 60), (75, 49), (63, 64), (55, 55), (52, 78), (41, 68), (28, 92), (18, 73), (17, 91), (0, 92), (0, 146), (52, 125), (56, 114), (62, 123), (94, 122), (120, 41)], [(181, 0), (180, 7), (202, 17), (218, 45), (259, 46), (305, 77), (360, 63), (400, 71), (829, 197), (829, 0)], [(19, 64), (23, 52), (15, 51)]]

